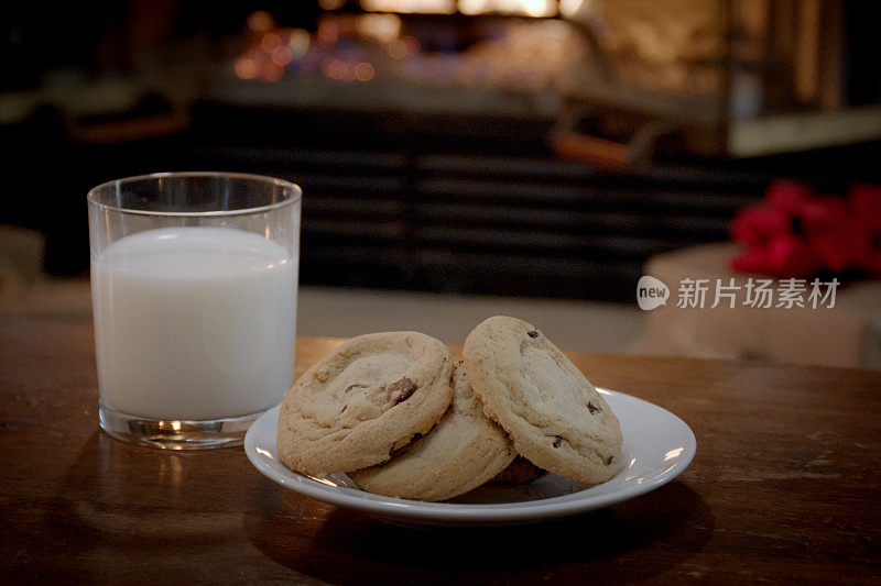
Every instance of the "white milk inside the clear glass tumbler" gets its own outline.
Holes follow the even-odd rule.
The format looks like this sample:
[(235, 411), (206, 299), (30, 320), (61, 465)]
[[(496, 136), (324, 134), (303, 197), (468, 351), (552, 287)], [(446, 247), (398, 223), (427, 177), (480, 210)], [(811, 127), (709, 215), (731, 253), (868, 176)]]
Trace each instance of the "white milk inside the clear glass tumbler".
[(219, 419), (281, 401), (294, 373), (296, 258), (259, 234), (170, 228), (91, 262), (101, 405)]

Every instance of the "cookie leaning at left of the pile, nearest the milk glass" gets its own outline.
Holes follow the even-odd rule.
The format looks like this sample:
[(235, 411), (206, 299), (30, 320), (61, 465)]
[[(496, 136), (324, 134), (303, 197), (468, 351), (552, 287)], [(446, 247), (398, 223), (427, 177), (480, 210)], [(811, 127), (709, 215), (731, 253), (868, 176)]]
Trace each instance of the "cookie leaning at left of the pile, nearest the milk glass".
[(279, 457), (307, 475), (380, 464), (440, 419), (453, 400), (452, 377), (453, 357), (434, 338), (354, 338), (287, 391), (279, 413)]

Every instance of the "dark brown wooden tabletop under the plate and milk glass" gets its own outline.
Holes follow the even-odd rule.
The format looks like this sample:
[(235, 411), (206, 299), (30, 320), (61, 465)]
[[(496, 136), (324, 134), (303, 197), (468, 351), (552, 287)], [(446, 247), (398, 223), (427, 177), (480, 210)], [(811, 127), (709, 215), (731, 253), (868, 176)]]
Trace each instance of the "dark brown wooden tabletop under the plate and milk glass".
[[(297, 372), (338, 341), (303, 339)], [(881, 374), (573, 354), (697, 436), (692, 466), (608, 509), (415, 530), (300, 496), (241, 449), (98, 430), (88, 323), (0, 323), (0, 582), (679, 584), (881, 579)]]

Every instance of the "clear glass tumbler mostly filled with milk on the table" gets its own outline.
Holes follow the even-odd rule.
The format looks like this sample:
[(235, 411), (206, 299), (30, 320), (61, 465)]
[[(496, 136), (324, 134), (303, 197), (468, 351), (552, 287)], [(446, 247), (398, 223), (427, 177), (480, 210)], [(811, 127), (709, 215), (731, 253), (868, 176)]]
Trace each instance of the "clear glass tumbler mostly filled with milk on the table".
[(292, 385), (302, 191), (162, 173), (88, 194), (101, 428), (172, 450), (240, 444)]

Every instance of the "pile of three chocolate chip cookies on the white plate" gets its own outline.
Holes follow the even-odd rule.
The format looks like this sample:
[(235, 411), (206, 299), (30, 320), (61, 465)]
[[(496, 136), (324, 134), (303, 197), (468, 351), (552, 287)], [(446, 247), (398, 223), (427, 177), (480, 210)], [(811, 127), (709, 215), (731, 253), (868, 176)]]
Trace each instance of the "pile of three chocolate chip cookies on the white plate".
[[(518, 455), (585, 484), (620, 469), (618, 418), (533, 325), (494, 317), (454, 364), (418, 332), (360, 335), (294, 384), (279, 414), (281, 462), (308, 476), (346, 473), (363, 490), (446, 500)], [(520, 462), (520, 460), (519, 460)]]

